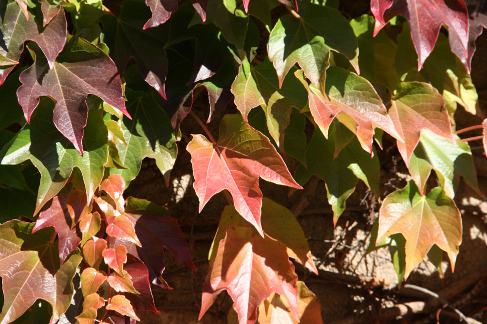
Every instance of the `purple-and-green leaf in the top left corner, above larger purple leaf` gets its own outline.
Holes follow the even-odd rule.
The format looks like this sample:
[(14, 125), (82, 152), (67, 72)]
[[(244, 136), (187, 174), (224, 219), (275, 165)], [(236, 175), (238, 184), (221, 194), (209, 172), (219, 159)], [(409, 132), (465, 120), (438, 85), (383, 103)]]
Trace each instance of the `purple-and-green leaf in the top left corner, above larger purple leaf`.
[(10, 61), (9, 65), (11, 65), (5, 69), (0, 69), (0, 85), (18, 64), (24, 48), (23, 43), (27, 40), (37, 43), (47, 58), (49, 67), (53, 68), (57, 54), (61, 52), (66, 43), (67, 29), (64, 11), (59, 11), (52, 19), (52, 23), (45, 27), (37, 26), (34, 15), (27, 11), (27, 8), (22, 13), (20, 6), (14, 1), (2, 1), (0, 11), (2, 12), (0, 33), (3, 38), (2, 46), (0, 46), (0, 57)]

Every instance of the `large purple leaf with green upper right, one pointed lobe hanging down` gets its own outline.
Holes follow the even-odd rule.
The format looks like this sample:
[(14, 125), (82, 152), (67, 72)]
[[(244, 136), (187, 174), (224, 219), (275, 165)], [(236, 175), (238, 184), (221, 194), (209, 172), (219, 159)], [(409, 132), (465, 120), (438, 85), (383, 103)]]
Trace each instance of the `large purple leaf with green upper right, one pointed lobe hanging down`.
[(122, 81), (115, 64), (93, 44), (68, 36), (66, 46), (51, 70), (47, 63), (43, 55), (37, 53), (34, 65), (20, 73), (22, 86), (17, 90), (17, 96), (27, 122), (30, 122), (40, 97), (50, 96), (56, 100), (53, 116), (56, 128), (82, 155), (88, 94), (100, 97), (130, 117), (125, 109)]

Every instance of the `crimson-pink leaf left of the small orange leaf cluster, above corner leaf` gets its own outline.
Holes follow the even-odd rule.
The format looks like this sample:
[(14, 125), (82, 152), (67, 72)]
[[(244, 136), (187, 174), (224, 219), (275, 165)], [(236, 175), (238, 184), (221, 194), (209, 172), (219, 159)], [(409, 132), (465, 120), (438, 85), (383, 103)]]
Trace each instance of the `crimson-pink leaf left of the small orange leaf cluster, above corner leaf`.
[(71, 229), (71, 217), (68, 213), (66, 204), (66, 194), (54, 197), (48, 202), (37, 218), (36, 226), (32, 233), (38, 230), (53, 226), (59, 235), (59, 260), (61, 265), (81, 242), (81, 238), (76, 234), (75, 229)]

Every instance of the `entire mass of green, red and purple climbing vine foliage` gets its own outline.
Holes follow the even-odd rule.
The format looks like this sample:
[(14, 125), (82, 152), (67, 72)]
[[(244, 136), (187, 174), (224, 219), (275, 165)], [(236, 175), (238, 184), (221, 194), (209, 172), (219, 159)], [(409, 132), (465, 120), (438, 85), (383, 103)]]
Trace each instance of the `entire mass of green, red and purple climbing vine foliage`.
[[(196, 268), (177, 220), (123, 192), (144, 158), (169, 182), (178, 148), (199, 211), (222, 191), (229, 202), (200, 318), (226, 290), (229, 321), (321, 323), (290, 260), (318, 271), (306, 238), (259, 178), (291, 193), (324, 180), (335, 224), (362, 180), (383, 198), (369, 250), (394, 246), (400, 281), (427, 253), (453, 269), (453, 198), (460, 178), (478, 191), (468, 141), (483, 138), (460, 139), (454, 114), (479, 108), (469, 72), (485, 6), (371, 0), (347, 18), (339, 0), (0, 0), (0, 323), (158, 312), (164, 249)], [(201, 96), (218, 136), (191, 111)], [(188, 114), (196, 134), (179, 129)], [(383, 136), (411, 179), (387, 197)]]

